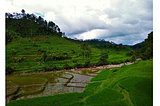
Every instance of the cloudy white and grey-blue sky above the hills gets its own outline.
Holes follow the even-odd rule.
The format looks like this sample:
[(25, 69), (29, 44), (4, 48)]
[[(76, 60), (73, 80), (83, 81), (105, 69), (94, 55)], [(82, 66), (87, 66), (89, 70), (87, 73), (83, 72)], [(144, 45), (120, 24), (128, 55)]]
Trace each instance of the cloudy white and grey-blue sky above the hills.
[(153, 0), (5, 0), (5, 12), (41, 15), (66, 36), (136, 44), (153, 30)]

